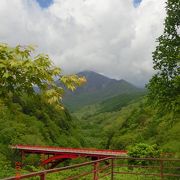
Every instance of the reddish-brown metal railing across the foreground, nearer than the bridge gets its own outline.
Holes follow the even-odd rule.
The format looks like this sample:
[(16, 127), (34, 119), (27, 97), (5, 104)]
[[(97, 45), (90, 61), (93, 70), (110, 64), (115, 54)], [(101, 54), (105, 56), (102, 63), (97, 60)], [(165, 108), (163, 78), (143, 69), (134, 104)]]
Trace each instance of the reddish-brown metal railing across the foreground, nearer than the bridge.
[[(84, 168), (83, 172), (79, 171), (80, 168)], [(70, 175), (69, 170), (76, 170), (75, 174)], [(66, 176), (64, 176), (64, 172), (66, 172)], [(146, 179), (147, 177), (154, 177), (154, 179), (170, 179), (170, 177), (174, 177), (180, 179), (180, 159), (110, 157), (10, 177), (4, 180), (19, 180), (35, 176), (41, 180), (48, 180), (51, 173), (58, 173), (59, 176), (63, 177), (62, 179), (66, 180), (81, 179), (81, 177), (87, 177), (90, 180), (104, 179), (104, 177), (109, 177), (108, 179), (111, 180), (114, 178), (130, 179), (129, 176), (143, 176)]]

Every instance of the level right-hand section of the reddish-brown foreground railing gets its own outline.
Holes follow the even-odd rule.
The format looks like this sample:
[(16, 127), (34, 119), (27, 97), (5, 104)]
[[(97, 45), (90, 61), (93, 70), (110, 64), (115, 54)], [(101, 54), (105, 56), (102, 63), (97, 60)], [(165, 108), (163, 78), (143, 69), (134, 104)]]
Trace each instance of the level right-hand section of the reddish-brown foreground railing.
[[(143, 176), (154, 176), (164, 179), (165, 177), (179, 177), (180, 179), (180, 159), (164, 159), (164, 158), (132, 158), (132, 157), (119, 157), (114, 158), (115, 160), (120, 160), (128, 162), (126, 164), (118, 163), (113, 164), (114, 167), (127, 167), (130, 171), (114, 171), (113, 174), (128, 174), (128, 175), (143, 175)], [(173, 163), (178, 164), (173, 165)], [(170, 165), (170, 166), (169, 166)], [(134, 168), (143, 169), (146, 172), (134, 172)], [(148, 170), (148, 171), (147, 171)], [(151, 172), (149, 172), (151, 170)], [(168, 171), (165, 172), (165, 171)], [(156, 172), (153, 172), (156, 171)], [(178, 173), (173, 173), (172, 171), (178, 171)]]

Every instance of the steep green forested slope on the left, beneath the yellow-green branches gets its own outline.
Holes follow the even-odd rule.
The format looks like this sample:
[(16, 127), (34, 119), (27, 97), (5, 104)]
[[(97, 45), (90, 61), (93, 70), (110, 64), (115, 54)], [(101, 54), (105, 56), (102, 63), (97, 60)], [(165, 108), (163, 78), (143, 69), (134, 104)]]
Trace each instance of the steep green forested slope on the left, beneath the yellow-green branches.
[(0, 179), (15, 174), (19, 156), (10, 150), (12, 144), (81, 146), (77, 121), (38, 95), (16, 97), (12, 102), (0, 99), (0, 114)]

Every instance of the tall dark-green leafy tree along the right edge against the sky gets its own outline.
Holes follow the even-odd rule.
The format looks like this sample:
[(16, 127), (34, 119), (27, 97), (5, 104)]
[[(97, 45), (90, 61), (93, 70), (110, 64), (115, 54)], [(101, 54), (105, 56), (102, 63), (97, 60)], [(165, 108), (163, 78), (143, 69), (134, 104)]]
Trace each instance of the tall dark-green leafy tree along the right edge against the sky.
[(180, 1), (168, 0), (164, 32), (153, 52), (156, 74), (149, 84), (149, 100), (165, 111), (179, 110), (180, 102)]

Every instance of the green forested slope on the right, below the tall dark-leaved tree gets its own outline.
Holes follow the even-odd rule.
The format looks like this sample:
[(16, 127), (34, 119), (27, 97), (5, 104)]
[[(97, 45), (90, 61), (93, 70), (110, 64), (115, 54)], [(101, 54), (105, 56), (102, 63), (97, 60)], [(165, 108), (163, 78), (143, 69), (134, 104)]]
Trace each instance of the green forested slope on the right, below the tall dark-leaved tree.
[(157, 144), (165, 152), (179, 153), (179, 120), (179, 114), (159, 114), (141, 100), (123, 108), (110, 126), (104, 126), (104, 144), (108, 148), (125, 149), (143, 142)]

